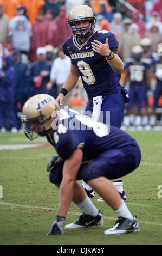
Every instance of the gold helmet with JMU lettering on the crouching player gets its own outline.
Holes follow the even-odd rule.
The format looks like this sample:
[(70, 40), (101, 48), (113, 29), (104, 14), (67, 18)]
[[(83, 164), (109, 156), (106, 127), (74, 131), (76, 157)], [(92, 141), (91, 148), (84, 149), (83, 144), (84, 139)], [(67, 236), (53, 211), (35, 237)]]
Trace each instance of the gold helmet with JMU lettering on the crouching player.
[(30, 139), (45, 136), (52, 121), (59, 117), (60, 108), (54, 97), (37, 94), (27, 100), (22, 109), (21, 120), (25, 123), (24, 133)]

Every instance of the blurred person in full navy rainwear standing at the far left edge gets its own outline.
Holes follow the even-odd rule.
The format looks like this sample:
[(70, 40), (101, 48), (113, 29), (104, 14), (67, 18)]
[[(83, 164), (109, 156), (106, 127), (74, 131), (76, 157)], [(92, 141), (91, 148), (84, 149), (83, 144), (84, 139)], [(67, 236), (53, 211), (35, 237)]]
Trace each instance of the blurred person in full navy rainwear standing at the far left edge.
[(17, 132), (15, 127), (15, 113), (13, 111), (14, 90), (15, 90), (15, 70), (11, 66), (12, 57), (3, 57), (3, 66), (0, 69), (0, 123), (1, 132), (7, 131), (7, 121), (11, 127), (11, 132)]

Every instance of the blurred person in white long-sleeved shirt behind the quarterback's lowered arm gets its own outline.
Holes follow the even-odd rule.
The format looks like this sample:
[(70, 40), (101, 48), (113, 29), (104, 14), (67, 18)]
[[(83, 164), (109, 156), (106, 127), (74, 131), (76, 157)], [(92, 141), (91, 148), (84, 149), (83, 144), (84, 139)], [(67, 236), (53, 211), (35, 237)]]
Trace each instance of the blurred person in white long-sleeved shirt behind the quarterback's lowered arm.
[[(63, 53), (62, 46), (58, 47), (58, 58), (53, 62), (50, 71), (50, 81), (47, 83), (46, 88), (50, 90), (53, 86), (57, 87), (57, 95), (59, 95), (60, 90), (64, 81), (70, 73), (70, 58)], [(63, 74), (63, 75), (62, 75)], [(67, 97), (63, 101), (64, 106), (70, 107), (70, 96), (71, 92), (68, 93)]]

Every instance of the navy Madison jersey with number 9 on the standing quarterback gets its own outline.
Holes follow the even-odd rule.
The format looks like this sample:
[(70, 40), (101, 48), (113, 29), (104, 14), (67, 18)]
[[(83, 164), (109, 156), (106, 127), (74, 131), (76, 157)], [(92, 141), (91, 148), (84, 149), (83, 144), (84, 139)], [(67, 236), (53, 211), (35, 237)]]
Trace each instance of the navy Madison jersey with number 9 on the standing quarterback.
[(91, 42), (98, 40), (105, 44), (106, 38), (108, 38), (109, 48), (116, 51), (119, 43), (115, 35), (105, 30), (95, 31), (82, 45), (72, 35), (62, 46), (64, 54), (69, 56), (73, 65), (77, 66), (89, 98), (113, 94), (121, 88), (119, 82), (121, 75), (111, 68), (105, 57), (92, 50)]

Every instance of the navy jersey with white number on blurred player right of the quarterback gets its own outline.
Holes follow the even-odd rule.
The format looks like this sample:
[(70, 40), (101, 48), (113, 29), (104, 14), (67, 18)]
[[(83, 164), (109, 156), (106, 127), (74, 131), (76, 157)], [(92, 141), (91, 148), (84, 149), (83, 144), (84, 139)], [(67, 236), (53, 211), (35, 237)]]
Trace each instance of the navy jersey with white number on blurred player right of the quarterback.
[(130, 86), (145, 86), (145, 71), (150, 69), (151, 62), (147, 58), (141, 58), (140, 62), (135, 62), (133, 58), (126, 59), (124, 67), (128, 68), (130, 74)]

